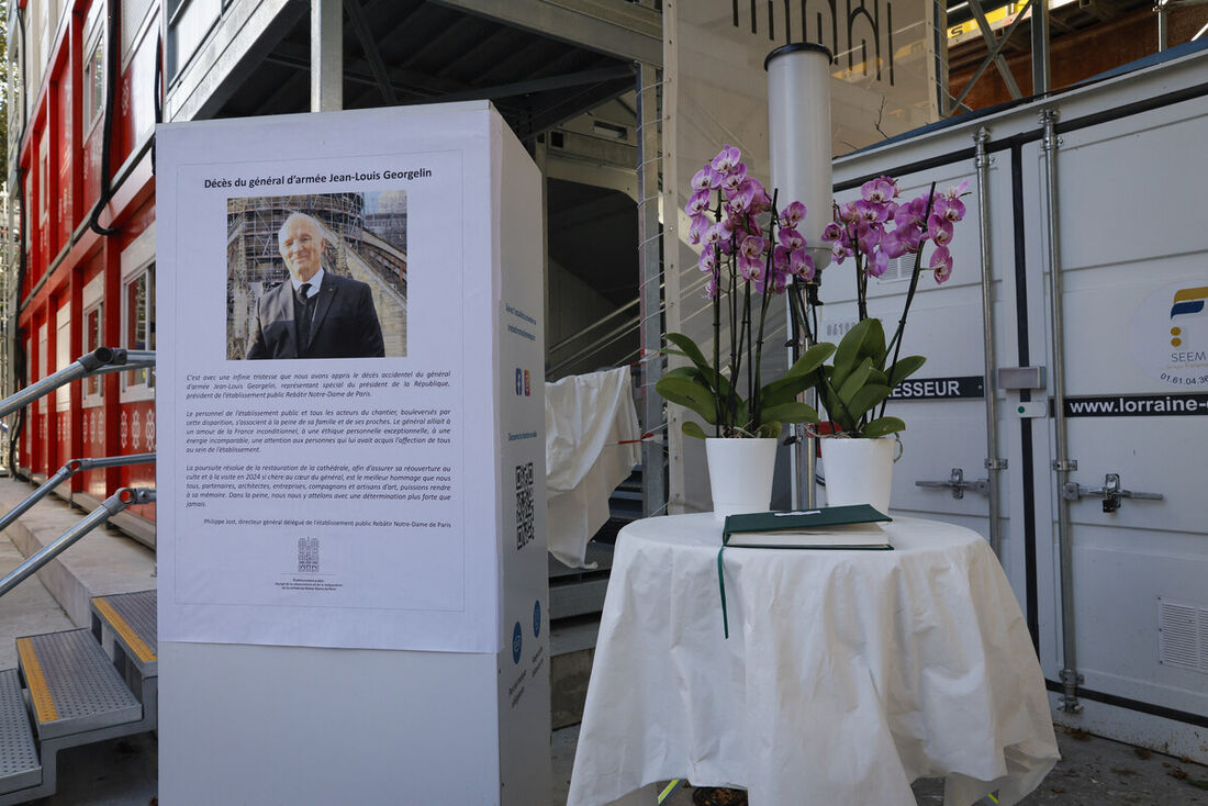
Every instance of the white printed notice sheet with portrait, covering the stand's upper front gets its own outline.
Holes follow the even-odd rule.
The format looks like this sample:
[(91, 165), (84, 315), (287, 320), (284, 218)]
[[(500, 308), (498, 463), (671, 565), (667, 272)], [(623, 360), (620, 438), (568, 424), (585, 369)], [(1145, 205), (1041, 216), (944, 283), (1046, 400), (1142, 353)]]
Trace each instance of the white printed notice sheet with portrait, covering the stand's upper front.
[[(511, 312), (542, 305), (499, 305), (484, 268), (484, 120), (161, 129), (162, 640), (501, 645), (493, 344), (536, 334), (506, 369), (539, 371), (536, 314)], [(534, 456), (536, 400), (512, 417)]]

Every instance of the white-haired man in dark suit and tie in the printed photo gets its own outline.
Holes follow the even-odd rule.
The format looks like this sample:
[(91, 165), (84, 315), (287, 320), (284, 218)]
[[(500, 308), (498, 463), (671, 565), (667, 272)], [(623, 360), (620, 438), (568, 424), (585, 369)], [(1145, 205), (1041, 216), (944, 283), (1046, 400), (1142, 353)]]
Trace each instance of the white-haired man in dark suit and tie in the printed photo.
[(385, 355), (370, 286), (324, 271), (319, 222), (291, 213), (277, 239), (290, 280), (256, 303), (245, 358)]

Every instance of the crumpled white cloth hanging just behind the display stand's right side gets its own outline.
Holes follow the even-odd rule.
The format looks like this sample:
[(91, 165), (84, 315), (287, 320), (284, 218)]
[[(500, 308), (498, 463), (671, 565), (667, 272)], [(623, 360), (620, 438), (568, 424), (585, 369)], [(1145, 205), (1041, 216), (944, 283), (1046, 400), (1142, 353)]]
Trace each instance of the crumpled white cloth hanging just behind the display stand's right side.
[(609, 495), (641, 460), (629, 367), (545, 384), (545, 434), (550, 553), (582, 568)]

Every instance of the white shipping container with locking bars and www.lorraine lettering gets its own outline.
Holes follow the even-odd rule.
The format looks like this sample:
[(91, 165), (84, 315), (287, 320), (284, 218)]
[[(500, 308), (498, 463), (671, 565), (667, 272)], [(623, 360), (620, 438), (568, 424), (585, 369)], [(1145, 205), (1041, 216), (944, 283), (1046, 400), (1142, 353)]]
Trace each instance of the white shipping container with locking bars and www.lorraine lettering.
[[(994, 537), (1055, 718), (1203, 764), (1208, 50), (1198, 45), (841, 158), (835, 182), (840, 201), (882, 174), (906, 198), (933, 181), (970, 182), (956, 271), (943, 285), (923, 278), (904, 340), (902, 355), (928, 356), (917, 379), (933, 383), (889, 407), (908, 424), (894, 511), (991, 538), (997, 494)], [(870, 288), (887, 330), (908, 285), (902, 269)], [(821, 296), (821, 338), (837, 341), (855, 320), (850, 263), (825, 269)], [(1043, 369), (999, 382), (997, 370), (1018, 367)], [(917, 485), (958, 479), (971, 483)], [(1114, 488), (1126, 492), (1105, 494)]]

